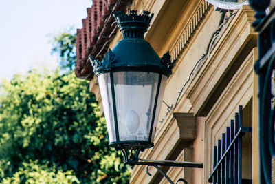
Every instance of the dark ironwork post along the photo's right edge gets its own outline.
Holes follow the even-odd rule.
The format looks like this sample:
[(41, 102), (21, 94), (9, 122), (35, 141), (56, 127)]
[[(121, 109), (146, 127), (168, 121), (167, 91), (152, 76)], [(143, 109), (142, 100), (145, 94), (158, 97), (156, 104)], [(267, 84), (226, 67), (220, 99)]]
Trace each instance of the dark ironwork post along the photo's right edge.
[(272, 157), (274, 149), (274, 105), (272, 105), (272, 73), (275, 68), (274, 42), (274, 7), (269, 14), (267, 8), (270, 0), (250, 0), (250, 5), (256, 10), (256, 21), (252, 23), (259, 32), (258, 49), (259, 59), (254, 70), (259, 76), (259, 145), (260, 145), (260, 182), (272, 183)]

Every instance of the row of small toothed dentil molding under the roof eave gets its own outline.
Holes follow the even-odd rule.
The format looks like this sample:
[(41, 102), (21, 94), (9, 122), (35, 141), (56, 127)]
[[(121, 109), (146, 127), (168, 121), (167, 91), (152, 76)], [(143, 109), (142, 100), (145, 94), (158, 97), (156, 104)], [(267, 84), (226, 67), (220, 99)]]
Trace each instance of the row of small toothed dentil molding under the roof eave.
[(181, 57), (182, 52), (186, 50), (190, 40), (192, 39), (195, 32), (197, 32), (199, 25), (201, 25), (203, 19), (206, 17), (206, 14), (208, 14), (211, 7), (212, 5), (204, 0), (201, 1), (199, 6), (197, 6), (197, 10), (188, 21), (186, 28), (184, 28), (184, 30), (181, 32), (179, 39), (177, 39), (177, 42), (171, 50), (172, 61)]

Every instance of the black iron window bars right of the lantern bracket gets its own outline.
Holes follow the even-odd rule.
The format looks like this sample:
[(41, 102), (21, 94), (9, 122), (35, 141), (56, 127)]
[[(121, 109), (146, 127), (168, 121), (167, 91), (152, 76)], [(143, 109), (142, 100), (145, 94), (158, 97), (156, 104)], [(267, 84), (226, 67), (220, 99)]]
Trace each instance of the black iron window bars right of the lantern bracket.
[(211, 183), (242, 182), (242, 136), (252, 132), (252, 127), (243, 127), (243, 108), (239, 106), (239, 113), (231, 120), (230, 127), (218, 140), (213, 149), (213, 170), (208, 177)]

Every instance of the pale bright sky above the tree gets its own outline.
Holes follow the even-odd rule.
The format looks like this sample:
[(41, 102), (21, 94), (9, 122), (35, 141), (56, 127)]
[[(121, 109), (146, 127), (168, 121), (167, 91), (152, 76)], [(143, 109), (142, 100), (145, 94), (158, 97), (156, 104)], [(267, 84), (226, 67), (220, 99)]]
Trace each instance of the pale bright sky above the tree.
[(0, 79), (32, 67), (55, 68), (52, 38), (82, 27), (91, 0), (0, 0)]

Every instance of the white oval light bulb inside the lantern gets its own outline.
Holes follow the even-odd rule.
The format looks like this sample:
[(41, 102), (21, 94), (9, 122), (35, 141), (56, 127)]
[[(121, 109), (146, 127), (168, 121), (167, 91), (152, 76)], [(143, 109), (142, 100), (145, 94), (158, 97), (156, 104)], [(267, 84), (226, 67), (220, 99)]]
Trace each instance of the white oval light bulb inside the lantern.
[(140, 126), (140, 117), (134, 110), (129, 111), (126, 114), (126, 128), (130, 134), (135, 134), (137, 128)]

